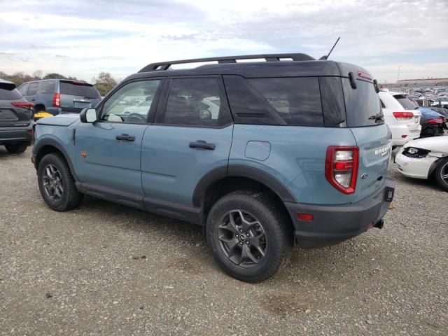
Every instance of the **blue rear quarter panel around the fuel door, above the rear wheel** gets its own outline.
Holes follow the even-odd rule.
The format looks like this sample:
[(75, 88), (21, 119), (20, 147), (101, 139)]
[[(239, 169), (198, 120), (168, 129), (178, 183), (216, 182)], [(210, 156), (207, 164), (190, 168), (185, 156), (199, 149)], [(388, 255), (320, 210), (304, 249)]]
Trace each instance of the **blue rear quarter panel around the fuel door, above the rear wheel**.
[[(256, 159), (254, 147), (246, 152), (250, 141), (269, 143), (269, 156), (260, 153)], [(349, 203), (353, 195), (339, 193), (325, 179), (328, 146), (356, 146), (356, 141), (348, 128), (235, 125), (229, 165), (267, 172), (287, 186), (300, 203)]]

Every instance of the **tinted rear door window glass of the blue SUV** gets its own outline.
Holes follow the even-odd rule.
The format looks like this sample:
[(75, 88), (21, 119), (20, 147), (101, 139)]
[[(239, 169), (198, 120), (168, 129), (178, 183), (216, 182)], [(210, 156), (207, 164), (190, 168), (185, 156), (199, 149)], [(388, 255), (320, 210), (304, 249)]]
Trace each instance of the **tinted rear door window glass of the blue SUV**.
[(224, 123), (225, 111), (216, 78), (172, 80), (165, 124), (214, 127)]

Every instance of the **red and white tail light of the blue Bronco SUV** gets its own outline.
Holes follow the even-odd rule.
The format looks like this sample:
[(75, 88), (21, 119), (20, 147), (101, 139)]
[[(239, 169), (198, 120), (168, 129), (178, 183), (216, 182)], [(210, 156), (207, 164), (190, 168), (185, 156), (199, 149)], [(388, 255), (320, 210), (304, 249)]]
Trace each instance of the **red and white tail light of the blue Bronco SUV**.
[(359, 148), (329, 146), (325, 158), (325, 178), (345, 195), (355, 193), (358, 179)]

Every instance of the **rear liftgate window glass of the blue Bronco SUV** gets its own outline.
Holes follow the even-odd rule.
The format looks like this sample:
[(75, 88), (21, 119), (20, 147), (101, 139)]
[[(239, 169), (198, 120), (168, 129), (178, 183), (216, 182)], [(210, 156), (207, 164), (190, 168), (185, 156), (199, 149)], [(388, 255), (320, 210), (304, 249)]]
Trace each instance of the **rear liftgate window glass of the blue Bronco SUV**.
[(351, 88), (349, 78), (342, 78), (348, 127), (373, 126), (384, 120), (373, 116), (382, 115), (379, 97), (373, 83), (356, 80), (356, 89)]

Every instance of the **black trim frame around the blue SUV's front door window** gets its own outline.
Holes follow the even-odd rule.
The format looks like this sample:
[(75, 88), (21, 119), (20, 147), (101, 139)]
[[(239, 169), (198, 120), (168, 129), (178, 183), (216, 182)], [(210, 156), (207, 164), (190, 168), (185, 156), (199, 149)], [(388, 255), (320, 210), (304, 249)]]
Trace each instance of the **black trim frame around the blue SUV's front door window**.
[[(111, 99), (111, 97), (113, 97), (113, 95), (120, 90), (122, 87), (125, 87), (128, 84), (131, 83), (136, 83), (136, 82), (146, 82), (149, 80), (160, 80), (159, 86), (157, 88), (157, 90), (155, 90), (155, 94), (154, 94), (154, 99), (153, 99), (153, 104), (151, 104), (151, 107), (148, 111), (148, 115), (146, 116), (146, 122), (145, 123), (129, 123), (129, 122), (125, 122), (125, 121), (109, 121), (109, 120), (102, 120), (102, 115), (103, 115), (103, 108), (104, 108), (104, 104), (106, 104), (106, 102)], [(109, 123), (109, 124), (126, 124), (126, 125), (151, 125), (153, 123), (153, 119), (154, 119), (154, 115), (155, 115), (155, 111), (157, 109), (158, 103), (160, 101), (160, 95), (162, 93), (162, 87), (164, 87), (165, 85), (165, 78), (163, 77), (144, 77), (144, 78), (136, 78), (136, 79), (132, 79), (132, 80), (127, 80), (123, 83), (120, 83), (119, 85), (117, 85), (116, 87), (113, 88), (113, 90), (111, 90), (111, 92), (109, 92), (106, 97), (104, 97), (104, 99), (102, 99), (101, 102), (99, 102), (98, 106), (97, 106), (97, 123)]]

